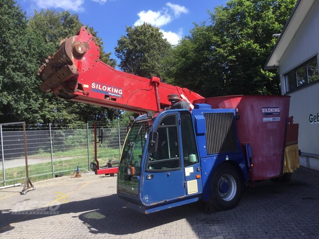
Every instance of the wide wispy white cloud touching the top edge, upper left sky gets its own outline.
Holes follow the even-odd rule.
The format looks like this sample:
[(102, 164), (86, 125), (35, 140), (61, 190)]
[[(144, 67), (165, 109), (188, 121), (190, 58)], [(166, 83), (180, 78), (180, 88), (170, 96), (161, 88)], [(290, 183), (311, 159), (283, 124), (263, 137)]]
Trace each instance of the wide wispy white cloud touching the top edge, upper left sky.
[(63, 10), (83, 11), (84, 0), (32, 0), (39, 8), (62, 8)]

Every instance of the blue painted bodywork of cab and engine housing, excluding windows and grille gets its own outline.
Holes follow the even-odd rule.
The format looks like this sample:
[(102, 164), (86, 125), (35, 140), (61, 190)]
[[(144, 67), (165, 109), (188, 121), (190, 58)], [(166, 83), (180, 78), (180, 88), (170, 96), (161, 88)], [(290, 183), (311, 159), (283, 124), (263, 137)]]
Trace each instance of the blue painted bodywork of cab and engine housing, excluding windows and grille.
[[(223, 162), (238, 165), (242, 171), (243, 180), (247, 180), (248, 173), (246, 161), (241, 151), (241, 145), (238, 141), (236, 120), (236, 150), (232, 152), (223, 152), (220, 154), (207, 154), (206, 149), (206, 123), (204, 113), (213, 112), (231, 112), (236, 116), (235, 109), (211, 109), (210, 105), (195, 104), (195, 109), (192, 110), (193, 129), (197, 143), (197, 154), (199, 160), (197, 163), (184, 167), (184, 155), (182, 150), (182, 135), (180, 126), (180, 112), (189, 112), (185, 109), (165, 110), (155, 118), (153, 128), (157, 129), (159, 123), (167, 115), (175, 114), (178, 124), (178, 145), (181, 158), (181, 167), (174, 171), (147, 171), (146, 164), (148, 161), (147, 147), (143, 149), (141, 170), (139, 175), (139, 194), (138, 196), (118, 192), (120, 198), (124, 199), (128, 207), (142, 212), (151, 213), (173, 206), (180, 206), (190, 202), (195, 202), (199, 199), (207, 201), (210, 194), (210, 182), (214, 170)], [(190, 112), (189, 112), (190, 113)], [(145, 145), (148, 145), (149, 135)], [(184, 160), (183, 160), (184, 159)], [(145, 171), (146, 170), (146, 171)], [(147, 176), (152, 174), (152, 179), (147, 179)], [(199, 178), (196, 178), (196, 176)], [(188, 193), (187, 182), (197, 180), (197, 192)], [(195, 183), (196, 185), (196, 183)], [(194, 186), (194, 184), (193, 184)]]

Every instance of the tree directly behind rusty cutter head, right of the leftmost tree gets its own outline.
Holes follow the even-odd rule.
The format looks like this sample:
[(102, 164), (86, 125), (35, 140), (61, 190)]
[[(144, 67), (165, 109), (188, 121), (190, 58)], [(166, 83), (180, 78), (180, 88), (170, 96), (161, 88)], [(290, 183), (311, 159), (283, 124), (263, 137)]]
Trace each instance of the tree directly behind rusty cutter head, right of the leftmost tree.
[[(83, 26), (77, 14), (69, 11), (41, 10), (34, 11), (34, 16), (30, 17), (28, 27), (31, 31), (40, 29), (40, 34), (53, 54), (60, 47), (60, 40), (75, 35)], [(103, 41), (97, 35), (93, 27), (89, 27), (90, 32), (95, 36), (100, 46), (100, 60), (115, 67), (116, 62), (110, 59), (110, 52), (103, 50)], [(39, 65), (40, 66), (40, 65)], [(40, 84), (41, 81), (39, 80)], [(57, 98), (50, 93), (41, 94), (45, 100), (41, 107), (41, 119), (43, 123), (71, 124), (80, 122), (100, 121), (109, 123), (114, 118), (120, 117), (120, 111), (109, 109), (97, 105), (83, 104)]]

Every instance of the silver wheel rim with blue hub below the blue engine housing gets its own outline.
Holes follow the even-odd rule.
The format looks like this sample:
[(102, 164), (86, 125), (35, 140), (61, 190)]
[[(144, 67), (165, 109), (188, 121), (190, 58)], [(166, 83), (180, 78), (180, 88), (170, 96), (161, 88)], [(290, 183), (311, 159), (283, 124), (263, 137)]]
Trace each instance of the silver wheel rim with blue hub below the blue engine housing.
[(236, 181), (235, 178), (230, 174), (224, 174), (219, 178), (218, 181), (218, 192), (221, 199), (224, 201), (230, 201), (235, 197), (236, 194)]

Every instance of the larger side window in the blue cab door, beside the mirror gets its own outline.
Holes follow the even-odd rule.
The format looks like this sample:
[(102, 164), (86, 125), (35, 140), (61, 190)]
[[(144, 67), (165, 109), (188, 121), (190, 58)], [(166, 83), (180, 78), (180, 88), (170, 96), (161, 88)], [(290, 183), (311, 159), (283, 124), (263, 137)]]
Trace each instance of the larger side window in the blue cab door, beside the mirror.
[(149, 154), (146, 171), (170, 171), (181, 168), (177, 115), (166, 116), (157, 129), (157, 151)]

